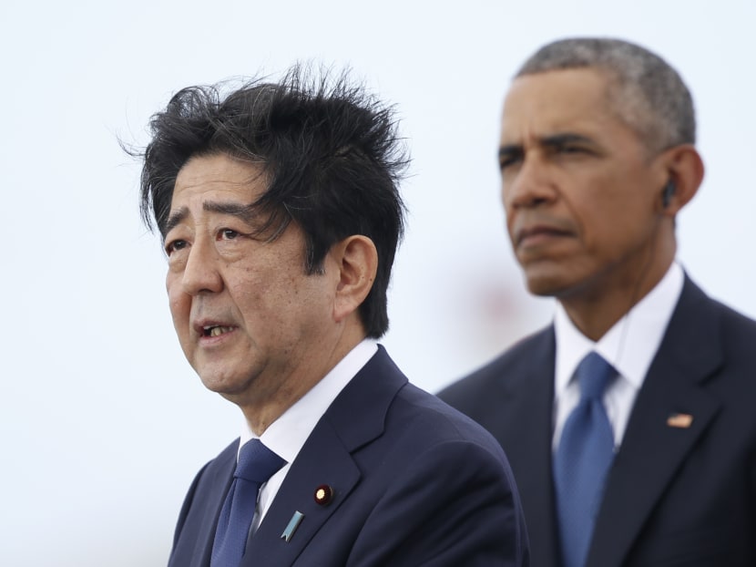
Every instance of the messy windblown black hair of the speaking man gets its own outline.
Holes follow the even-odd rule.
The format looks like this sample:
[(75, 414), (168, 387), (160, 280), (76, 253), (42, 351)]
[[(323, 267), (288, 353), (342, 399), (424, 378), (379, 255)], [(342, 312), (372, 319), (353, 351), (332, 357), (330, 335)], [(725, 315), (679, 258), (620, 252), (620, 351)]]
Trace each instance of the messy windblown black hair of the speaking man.
[[(279, 82), (253, 79), (189, 87), (150, 121), (141, 175), (142, 219), (165, 239), (179, 170), (194, 156), (224, 154), (261, 167), (268, 189), (250, 203), (267, 218), (272, 241), (290, 222), (305, 239), (305, 273), (322, 273), (332, 245), (352, 234), (378, 253), (373, 287), (359, 308), (368, 336), (388, 329), (386, 292), (404, 234), (399, 181), (409, 162), (393, 108), (343, 72), (332, 77), (295, 66)], [(153, 222), (154, 220), (154, 222)]]

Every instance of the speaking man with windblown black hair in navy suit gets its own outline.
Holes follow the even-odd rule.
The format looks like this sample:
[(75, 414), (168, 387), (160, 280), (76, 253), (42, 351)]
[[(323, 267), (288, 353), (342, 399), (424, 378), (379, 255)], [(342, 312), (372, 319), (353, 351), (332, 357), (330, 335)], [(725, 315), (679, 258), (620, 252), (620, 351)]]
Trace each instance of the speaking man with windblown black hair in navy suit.
[(501, 447), (376, 343), (404, 224), (392, 112), (297, 68), (221, 89), (180, 91), (143, 154), (179, 342), (246, 423), (169, 565), (526, 565)]

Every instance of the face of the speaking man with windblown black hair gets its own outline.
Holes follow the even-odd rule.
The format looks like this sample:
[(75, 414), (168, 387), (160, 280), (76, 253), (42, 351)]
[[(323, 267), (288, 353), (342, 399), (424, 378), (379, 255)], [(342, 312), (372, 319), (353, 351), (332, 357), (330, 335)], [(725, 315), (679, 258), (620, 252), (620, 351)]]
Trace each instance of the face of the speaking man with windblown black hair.
[(179, 170), (165, 239), (184, 354), (206, 387), (240, 405), (292, 397), (303, 375), (320, 371), (309, 366), (332, 326), (335, 283), (305, 274), (299, 227), (272, 242), (252, 235), (266, 219), (245, 207), (266, 188), (254, 164), (192, 158)]

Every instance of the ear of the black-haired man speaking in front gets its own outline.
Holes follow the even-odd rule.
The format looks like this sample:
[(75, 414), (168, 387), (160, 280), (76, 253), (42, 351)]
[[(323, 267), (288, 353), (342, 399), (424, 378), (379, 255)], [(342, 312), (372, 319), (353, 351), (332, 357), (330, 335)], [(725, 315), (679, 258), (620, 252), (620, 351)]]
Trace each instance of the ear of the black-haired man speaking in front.
[(334, 244), (331, 254), (339, 273), (333, 303), (333, 319), (339, 323), (357, 311), (373, 288), (378, 251), (367, 236), (353, 234)]

